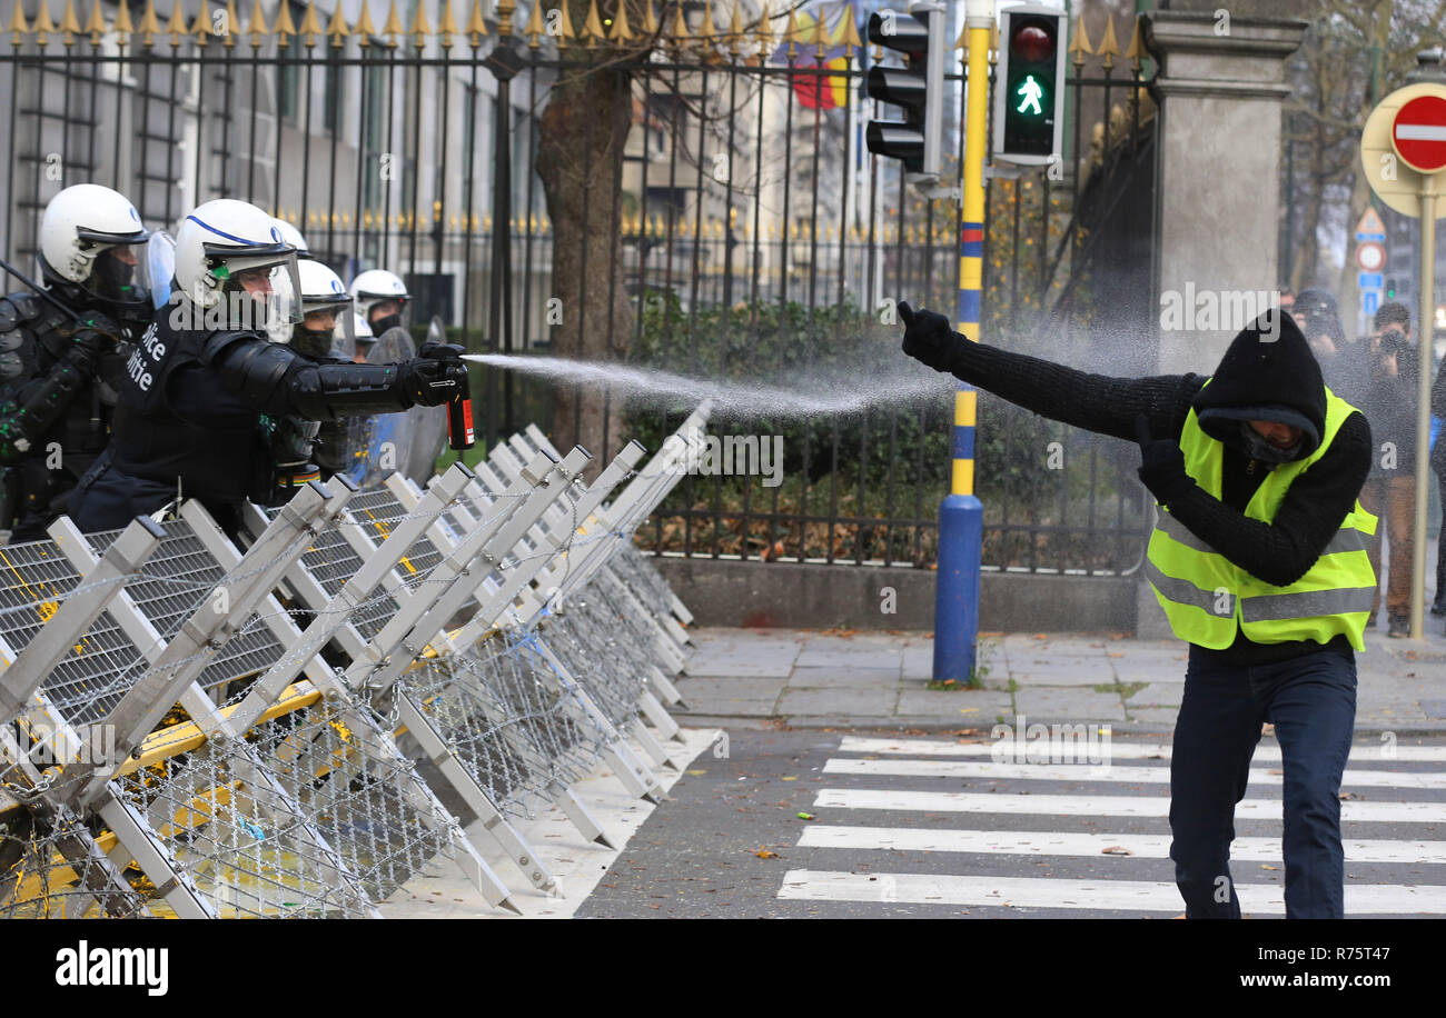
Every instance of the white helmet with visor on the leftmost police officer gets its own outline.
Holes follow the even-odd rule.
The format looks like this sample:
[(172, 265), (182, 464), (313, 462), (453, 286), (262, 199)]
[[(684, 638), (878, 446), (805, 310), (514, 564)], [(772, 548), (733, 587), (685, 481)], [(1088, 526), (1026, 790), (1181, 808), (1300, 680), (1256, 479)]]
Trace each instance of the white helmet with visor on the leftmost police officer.
[(40, 217), (40, 274), (46, 286), (74, 302), (100, 305), (121, 319), (147, 321), (146, 258), (130, 245), (149, 237), (124, 195), (98, 183), (77, 183), (55, 195)]

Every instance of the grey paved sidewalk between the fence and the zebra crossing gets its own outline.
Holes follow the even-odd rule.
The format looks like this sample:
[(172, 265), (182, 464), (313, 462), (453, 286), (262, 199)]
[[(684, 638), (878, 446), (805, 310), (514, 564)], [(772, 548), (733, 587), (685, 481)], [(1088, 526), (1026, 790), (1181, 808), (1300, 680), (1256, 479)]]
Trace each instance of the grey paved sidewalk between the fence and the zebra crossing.
[[(1358, 732), (1446, 731), (1446, 635), (1366, 634), (1356, 654)], [(1027, 722), (1111, 722), (1115, 731), (1168, 732), (1184, 687), (1186, 645), (1118, 634), (982, 634), (982, 689), (928, 689), (933, 640), (924, 632), (811, 630), (693, 631), (677, 680), (688, 725), (959, 729)]]

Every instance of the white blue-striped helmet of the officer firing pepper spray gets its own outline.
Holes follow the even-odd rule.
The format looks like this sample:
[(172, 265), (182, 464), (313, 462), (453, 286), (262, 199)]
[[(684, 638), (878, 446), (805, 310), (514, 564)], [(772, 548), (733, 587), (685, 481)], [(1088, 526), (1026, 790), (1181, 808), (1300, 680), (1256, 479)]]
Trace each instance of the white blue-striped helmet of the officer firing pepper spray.
[(259, 331), (299, 318), (296, 248), (254, 205), (231, 198), (198, 205), (181, 221), (175, 257), (176, 287), (205, 312), (207, 328)]

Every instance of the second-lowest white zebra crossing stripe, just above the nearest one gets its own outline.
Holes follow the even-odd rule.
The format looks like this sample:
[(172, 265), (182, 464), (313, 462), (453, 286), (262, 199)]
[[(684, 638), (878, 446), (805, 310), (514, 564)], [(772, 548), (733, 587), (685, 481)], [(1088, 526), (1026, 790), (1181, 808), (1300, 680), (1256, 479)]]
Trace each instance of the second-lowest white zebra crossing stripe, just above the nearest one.
[[(1446, 863), (1446, 842), (1343, 839), (1346, 862)], [(798, 848), (966, 852), (973, 855), (1099, 856), (1168, 859), (1170, 835), (1098, 835), (1061, 830), (928, 830), (810, 825)], [(1106, 853), (1105, 849), (1122, 849)], [(1236, 838), (1231, 859), (1281, 862), (1280, 838)]]

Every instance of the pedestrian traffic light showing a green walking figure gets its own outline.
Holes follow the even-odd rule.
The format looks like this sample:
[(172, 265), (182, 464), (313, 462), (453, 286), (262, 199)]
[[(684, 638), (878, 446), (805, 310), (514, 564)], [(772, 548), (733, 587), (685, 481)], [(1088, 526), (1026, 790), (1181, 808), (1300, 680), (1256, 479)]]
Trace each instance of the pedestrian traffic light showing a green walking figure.
[(1001, 17), (993, 155), (1041, 166), (1060, 152), (1064, 127), (1064, 14), (1024, 4)]

